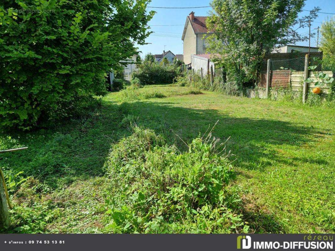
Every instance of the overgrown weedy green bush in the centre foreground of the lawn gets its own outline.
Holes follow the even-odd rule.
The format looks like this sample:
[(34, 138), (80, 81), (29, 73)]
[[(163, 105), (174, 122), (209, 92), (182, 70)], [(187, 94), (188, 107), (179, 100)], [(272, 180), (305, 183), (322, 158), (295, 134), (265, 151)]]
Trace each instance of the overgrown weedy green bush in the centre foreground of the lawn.
[(112, 148), (105, 164), (113, 187), (107, 200), (113, 222), (104, 232), (162, 233), (188, 227), (221, 232), (242, 226), (241, 218), (224, 205), (233, 172), (228, 155), (217, 153), (217, 142), (210, 135), (199, 137), (180, 153), (154, 131), (135, 127), (133, 135)]

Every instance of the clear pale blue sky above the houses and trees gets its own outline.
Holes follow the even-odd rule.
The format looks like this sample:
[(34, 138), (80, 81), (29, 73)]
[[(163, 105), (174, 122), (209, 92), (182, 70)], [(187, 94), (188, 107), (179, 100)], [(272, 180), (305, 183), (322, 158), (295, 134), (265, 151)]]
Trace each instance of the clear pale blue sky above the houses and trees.
[[(209, 6), (210, 0), (152, 0), (149, 6), (155, 7), (197, 7), (197, 6)], [(303, 9), (311, 10), (314, 6), (319, 6), (321, 12), (335, 13), (335, 1), (334, 0), (318, 0), (312, 1), (307, 0), (306, 5)], [(152, 20), (149, 22), (151, 30), (155, 33), (151, 34), (146, 42), (149, 45), (138, 46), (139, 51), (142, 51), (142, 56), (151, 52), (152, 54), (161, 54), (165, 51), (172, 51), (174, 54), (183, 54), (183, 41), (182, 32), (186, 20), (186, 16), (193, 10), (196, 16), (207, 16), (208, 11), (211, 8), (197, 8), (197, 9), (153, 9), (157, 13), (154, 15)], [(299, 16), (306, 15), (308, 12), (303, 11)], [(327, 20), (327, 18), (333, 15), (321, 14), (311, 24), (311, 29), (321, 26), (321, 22)], [(155, 25), (175, 25), (175, 26), (155, 26)], [(308, 28), (300, 28), (299, 33), (308, 32)]]

